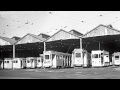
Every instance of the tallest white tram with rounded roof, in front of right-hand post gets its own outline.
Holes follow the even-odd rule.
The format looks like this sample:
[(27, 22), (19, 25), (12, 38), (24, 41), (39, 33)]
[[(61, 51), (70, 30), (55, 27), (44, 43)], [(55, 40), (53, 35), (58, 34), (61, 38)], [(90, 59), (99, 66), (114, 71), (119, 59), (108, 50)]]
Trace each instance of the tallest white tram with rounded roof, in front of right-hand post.
[(72, 52), (73, 66), (90, 67), (91, 54), (83, 49), (74, 49)]

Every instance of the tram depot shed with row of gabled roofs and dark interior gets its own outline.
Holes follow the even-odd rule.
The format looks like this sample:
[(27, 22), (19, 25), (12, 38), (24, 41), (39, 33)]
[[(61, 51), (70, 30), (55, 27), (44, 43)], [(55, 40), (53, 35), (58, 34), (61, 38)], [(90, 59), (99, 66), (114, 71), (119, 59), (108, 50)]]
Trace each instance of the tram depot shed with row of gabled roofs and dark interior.
[[(30, 58), (37, 60), (45, 51), (72, 54), (74, 49), (86, 50), (90, 55), (92, 51), (107, 51), (109, 53), (109, 62), (112, 63), (113, 58), (115, 58), (113, 54), (120, 52), (119, 41), (120, 31), (114, 29), (111, 25), (102, 24), (84, 35), (76, 30), (68, 32), (61, 29), (52, 36), (44, 33), (39, 35), (28, 33), (22, 38), (0, 36), (0, 67), (13, 68), (14, 63), (19, 62), (19, 60), (17, 61), (19, 58), (26, 60), (26, 62), (29, 62), (27, 60)], [(15, 58), (16, 60), (12, 61)], [(71, 57), (71, 59), (73, 58)], [(26, 62), (22, 62), (22, 66), (16, 64), (15, 67), (24, 67)], [(21, 62), (19, 64), (21, 65)]]

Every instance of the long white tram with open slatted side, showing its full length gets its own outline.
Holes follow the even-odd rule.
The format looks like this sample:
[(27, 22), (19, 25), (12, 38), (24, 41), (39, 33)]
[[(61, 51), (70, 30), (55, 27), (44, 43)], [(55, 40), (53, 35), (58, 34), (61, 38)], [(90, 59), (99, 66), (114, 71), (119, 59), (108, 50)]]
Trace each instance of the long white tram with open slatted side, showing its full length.
[(46, 51), (44, 52), (43, 67), (67, 68), (71, 67), (72, 55), (68, 53)]

